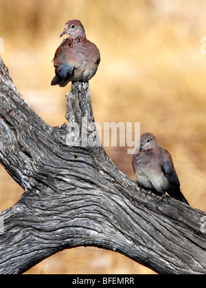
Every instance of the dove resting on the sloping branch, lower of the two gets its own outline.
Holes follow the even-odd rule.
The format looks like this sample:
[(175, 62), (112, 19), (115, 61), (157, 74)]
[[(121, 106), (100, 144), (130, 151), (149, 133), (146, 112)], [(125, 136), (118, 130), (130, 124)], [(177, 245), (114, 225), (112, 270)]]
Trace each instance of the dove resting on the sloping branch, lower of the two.
[(170, 153), (158, 146), (153, 134), (140, 136), (139, 147), (133, 155), (133, 169), (141, 187), (161, 193), (162, 199), (168, 192), (170, 197), (189, 205), (180, 190)]

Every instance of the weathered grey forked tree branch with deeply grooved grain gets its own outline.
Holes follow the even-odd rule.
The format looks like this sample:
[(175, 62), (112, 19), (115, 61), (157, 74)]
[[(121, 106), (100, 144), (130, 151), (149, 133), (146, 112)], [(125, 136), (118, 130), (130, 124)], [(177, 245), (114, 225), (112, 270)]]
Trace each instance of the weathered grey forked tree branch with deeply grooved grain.
[(159, 203), (115, 167), (95, 129), (87, 83), (73, 84), (66, 97), (69, 125), (49, 126), (0, 60), (0, 162), (25, 189), (1, 213), (0, 273), (25, 272), (84, 245), (120, 252), (162, 274), (205, 274), (205, 212), (174, 199)]

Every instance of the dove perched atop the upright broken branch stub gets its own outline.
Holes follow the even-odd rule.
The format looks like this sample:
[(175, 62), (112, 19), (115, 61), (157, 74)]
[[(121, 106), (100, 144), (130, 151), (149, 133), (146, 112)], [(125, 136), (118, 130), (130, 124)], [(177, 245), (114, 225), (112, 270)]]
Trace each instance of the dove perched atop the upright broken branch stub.
[(56, 49), (53, 59), (56, 76), (51, 85), (65, 87), (69, 81), (89, 81), (100, 63), (98, 47), (87, 40), (79, 20), (68, 21), (60, 37), (64, 34), (69, 34), (69, 38)]

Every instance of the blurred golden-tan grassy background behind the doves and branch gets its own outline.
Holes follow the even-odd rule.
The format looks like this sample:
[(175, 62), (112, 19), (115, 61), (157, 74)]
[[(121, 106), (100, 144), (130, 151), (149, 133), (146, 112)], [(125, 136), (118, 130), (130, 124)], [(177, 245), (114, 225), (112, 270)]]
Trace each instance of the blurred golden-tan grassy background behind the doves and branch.
[[(65, 120), (65, 88), (51, 62), (65, 23), (80, 19), (101, 62), (89, 85), (95, 121), (141, 122), (172, 154), (190, 205), (206, 210), (205, 0), (0, 0), (3, 61), (25, 100), (51, 126)], [(205, 48), (205, 49), (204, 49)], [(135, 179), (127, 147), (106, 147)], [(0, 211), (23, 190), (0, 166)], [(27, 274), (154, 274), (95, 247), (65, 250)]]

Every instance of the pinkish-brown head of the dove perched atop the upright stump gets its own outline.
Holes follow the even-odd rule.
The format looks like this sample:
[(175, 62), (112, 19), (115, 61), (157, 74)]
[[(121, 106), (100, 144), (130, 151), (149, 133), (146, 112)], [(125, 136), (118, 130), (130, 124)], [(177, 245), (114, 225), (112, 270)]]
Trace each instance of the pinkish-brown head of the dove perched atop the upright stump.
[(69, 34), (69, 37), (76, 39), (78, 36), (86, 38), (84, 27), (79, 20), (70, 20), (65, 24), (64, 31), (60, 37)]

